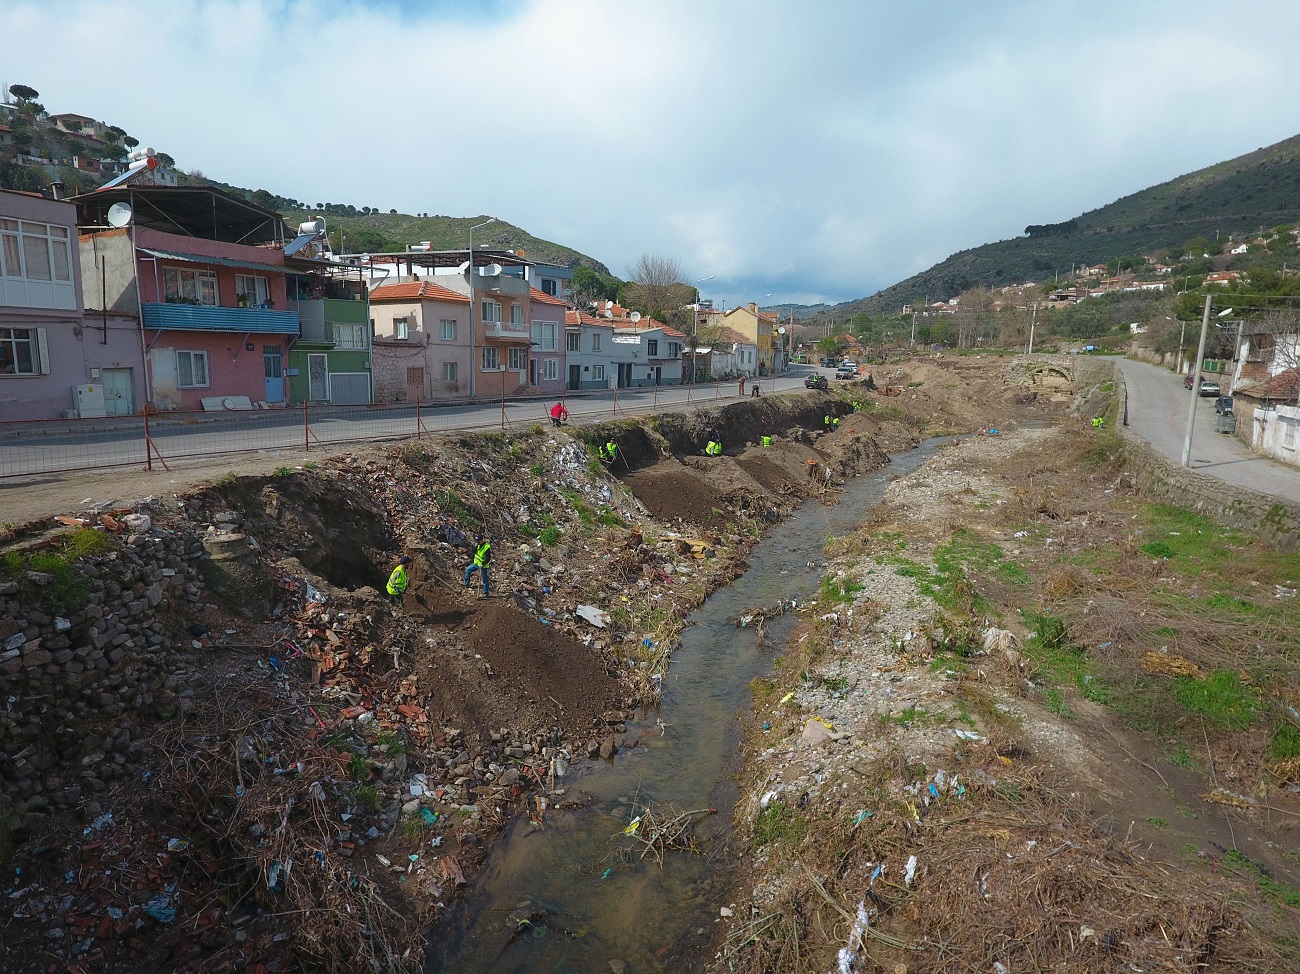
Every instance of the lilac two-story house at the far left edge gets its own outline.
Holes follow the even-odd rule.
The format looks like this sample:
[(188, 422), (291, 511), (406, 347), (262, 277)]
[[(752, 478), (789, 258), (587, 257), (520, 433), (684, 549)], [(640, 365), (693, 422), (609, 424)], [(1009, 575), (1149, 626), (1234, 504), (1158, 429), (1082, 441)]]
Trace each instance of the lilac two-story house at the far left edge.
[[(96, 255), (87, 263), (94, 265)], [(0, 417), (124, 416), (143, 402), (134, 319), (83, 315), (77, 207), (0, 191)]]

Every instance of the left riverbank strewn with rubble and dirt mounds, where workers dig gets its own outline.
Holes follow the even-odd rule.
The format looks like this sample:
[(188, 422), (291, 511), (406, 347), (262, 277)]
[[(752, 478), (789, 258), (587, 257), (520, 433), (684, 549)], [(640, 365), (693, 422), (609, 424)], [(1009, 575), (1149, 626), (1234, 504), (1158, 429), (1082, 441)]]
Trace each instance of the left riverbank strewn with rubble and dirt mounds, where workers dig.
[[(502, 826), (636, 743), (681, 618), (767, 525), (968, 421), (957, 394), (852, 395), (406, 443), (20, 527), (5, 965), (416, 965)], [(699, 456), (710, 432), (725, 456)], [(460, 583), (484, 528), (490, 599)]]

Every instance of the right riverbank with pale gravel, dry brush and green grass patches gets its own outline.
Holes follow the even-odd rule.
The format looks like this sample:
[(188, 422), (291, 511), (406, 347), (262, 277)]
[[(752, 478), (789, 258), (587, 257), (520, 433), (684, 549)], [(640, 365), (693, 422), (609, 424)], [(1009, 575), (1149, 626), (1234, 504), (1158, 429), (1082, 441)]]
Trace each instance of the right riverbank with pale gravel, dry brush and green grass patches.
[(962, 438), (827, 554), (711, 969), (1296, 965), (1295, 557), (1082, 423)]

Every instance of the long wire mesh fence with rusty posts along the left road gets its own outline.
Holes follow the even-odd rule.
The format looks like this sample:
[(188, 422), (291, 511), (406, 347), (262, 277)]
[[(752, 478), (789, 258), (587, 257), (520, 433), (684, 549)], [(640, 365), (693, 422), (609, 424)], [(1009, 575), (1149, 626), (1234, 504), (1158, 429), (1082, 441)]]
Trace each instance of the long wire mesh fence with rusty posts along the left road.
[[(764, 391), (801, 386), (801, 378), (763, 378)], [(746, 384), (750, 393), (754, 381)], [(740, 397), (736, 382), (564, 393), (571, 423), (689, 410)], [(0, 477), (107, 467), (166, 469), (168, 463), (226, 454), (280, 451), (309, 455), (338, 443), (422, 437), (549, 423), (551, 398), (497, 402), (416, 402), (372, 406), (296, 406), (238, 412), (164, 412), (109, 419), (0, 421)]]

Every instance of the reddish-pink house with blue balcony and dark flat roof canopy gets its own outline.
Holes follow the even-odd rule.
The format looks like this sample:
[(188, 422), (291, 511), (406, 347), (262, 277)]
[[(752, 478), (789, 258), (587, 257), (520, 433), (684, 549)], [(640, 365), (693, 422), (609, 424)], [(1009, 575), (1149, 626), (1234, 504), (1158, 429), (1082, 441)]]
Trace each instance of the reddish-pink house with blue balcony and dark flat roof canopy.
[(200, 186), (126, 185), (73, 202), (86, 293), (135, 317), (152, 408), (286, 402), (299, 319), (285, 309), (290, 234), (278, 213)]

